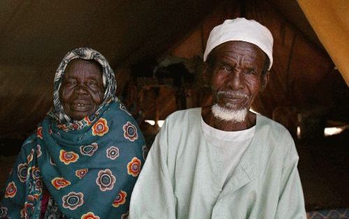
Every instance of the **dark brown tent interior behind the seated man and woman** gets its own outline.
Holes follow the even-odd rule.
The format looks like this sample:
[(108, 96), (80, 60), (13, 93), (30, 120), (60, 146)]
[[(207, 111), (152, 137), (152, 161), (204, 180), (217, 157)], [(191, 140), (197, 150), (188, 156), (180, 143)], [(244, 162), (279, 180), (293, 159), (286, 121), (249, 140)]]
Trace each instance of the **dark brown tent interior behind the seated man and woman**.
[(209, 31), (235, 17), (257, 20), (274, 36), (269, 84), (252, 108), (294, 137), (306, 210), (348, 208), (348, 85), (297, 1), (287, 0), (1, 1), (0, 188), (52, 107), (66, 52), (89, 47), (107, 58), (117, 96), (151, 144), (159, 127), (145, 120), (211, 101), (202, 55)]

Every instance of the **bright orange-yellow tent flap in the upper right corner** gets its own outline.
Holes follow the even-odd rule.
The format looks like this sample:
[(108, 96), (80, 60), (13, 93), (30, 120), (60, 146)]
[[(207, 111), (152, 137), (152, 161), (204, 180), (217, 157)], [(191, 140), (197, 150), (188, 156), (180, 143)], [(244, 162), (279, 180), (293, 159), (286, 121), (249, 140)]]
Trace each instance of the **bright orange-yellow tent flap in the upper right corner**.
[(349, 1), (297, 1), (322, 45), (349, 85)]

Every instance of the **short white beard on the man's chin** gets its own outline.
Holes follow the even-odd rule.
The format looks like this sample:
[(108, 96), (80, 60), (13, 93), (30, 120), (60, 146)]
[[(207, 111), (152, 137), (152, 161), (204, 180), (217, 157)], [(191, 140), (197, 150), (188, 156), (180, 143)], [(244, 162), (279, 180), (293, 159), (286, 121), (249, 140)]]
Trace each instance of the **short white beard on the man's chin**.
[(247, 115), (246, 108), (231, 110), (228, 108), (223, 108), (221, 106), (218, 106), (218, 104), (214, 104), (211, 107), (211, 110), (212, 110), (212, 113), (214, 114), (214, 117), (220, 120), (232, 121), (232, 122), (244, 122)]

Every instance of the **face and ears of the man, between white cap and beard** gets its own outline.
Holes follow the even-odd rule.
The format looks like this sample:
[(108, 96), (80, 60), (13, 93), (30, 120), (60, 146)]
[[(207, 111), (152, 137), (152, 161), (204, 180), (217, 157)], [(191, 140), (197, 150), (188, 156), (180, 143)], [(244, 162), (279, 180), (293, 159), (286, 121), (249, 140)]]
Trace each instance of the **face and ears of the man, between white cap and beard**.
[(267, 84), (262, 77), (265, 53), (252, 43), (228, 41), (211, 51), (204, 75), (211, 83), (214, 104), (228, 111), (249, 109)]

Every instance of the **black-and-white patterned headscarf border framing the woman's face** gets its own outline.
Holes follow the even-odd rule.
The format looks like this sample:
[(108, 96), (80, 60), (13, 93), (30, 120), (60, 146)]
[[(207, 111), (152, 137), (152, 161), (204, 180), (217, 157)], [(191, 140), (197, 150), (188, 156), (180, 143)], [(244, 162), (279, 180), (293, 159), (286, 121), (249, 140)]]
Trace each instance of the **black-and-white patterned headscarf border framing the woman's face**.
[(48, 115), (54, 118), (54, 120), (57, 120), (59, 123), (70, 122), (71, 120), (71, 118), (64, 112), (64, 108), (61, 105), (61, 101), (59, 100), (59, 88), (64, 77), (64, 71), (66, 69), (66, 66), (68, 66), (69, 62), (71, 62), (73, 59), (94, 59), (102, 66), (103, 85), (105, 85), (105, 92), (103, 96), (103, 102), (97, 109), (96, 113), (98, 113), (98, 111), (100, 111), (101, 108), (105, 106), (107, 103), (117, 99), (115, 94), (117, 90), (117, 82), (115, 80), (114, 72), (112, 71), (112, 68), (107, 62), (107, 59), (105, 59), (105, 57), (100, 52), (94, 49), (75, 48), (74, 50), (71, 50), (64, 56), (54, 76), (54, 108), (52, 108)]

